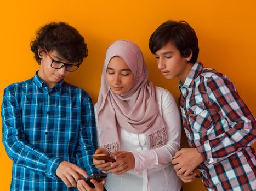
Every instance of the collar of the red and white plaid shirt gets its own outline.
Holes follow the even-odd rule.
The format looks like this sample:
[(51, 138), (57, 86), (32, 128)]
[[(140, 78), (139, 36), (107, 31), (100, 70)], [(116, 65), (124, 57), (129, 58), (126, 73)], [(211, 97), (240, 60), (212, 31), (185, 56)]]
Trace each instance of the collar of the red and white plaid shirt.
[(184, 83), (181, 81), (179, 82), (179, 88), (189, 88), (190, 86), (193, 85), (194, 80), (198, 75), (201, 74), (203, 70), (203, 64), (201, 62), (196, 62), (193, 67), (191, 68), (189, 75), (187, 75), (186, 80)]

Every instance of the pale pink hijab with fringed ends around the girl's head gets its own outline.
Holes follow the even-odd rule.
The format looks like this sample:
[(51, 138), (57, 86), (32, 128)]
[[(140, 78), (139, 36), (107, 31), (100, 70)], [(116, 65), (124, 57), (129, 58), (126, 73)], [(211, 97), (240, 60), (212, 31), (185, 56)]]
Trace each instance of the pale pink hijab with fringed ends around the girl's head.
[[(110, 59), (119, 56), (134, 75), (134, 86), (129, 92), (114, 94), (106, 82), (106, 69)], [(166, 143), (166, 124), (159, 113), (155, 86), (148, 81), (149, 71), (140, 48), (131, 41), (117, 40), (106, 52), (97, 110), (100, 146), (107, 151), (117, 151), (119, 135), (117, 128), (130, 133), (144, 133), (149, 148)]]

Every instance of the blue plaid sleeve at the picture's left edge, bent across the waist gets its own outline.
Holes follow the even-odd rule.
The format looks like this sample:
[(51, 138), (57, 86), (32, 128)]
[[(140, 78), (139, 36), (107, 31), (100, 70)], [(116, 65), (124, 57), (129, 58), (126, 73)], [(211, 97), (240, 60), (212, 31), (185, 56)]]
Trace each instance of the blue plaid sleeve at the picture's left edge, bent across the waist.
[(15, 86), (5, 88), (1, 115), (3, 144), (8, 156), (17, 165), (37, 171), (43, 176), (56, 178), (55, 172), (62, 160), (45, 154), (26, 141), (16, 99)]

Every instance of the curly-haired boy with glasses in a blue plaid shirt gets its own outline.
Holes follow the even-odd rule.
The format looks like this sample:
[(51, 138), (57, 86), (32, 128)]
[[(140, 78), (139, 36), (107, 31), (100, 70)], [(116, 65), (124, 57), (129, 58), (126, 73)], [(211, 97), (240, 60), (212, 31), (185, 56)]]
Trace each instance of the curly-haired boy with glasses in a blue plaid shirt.
[[(31, 50), (39, 70), (3, 95), (3, 144), (13, 160), (10, 190), (77, 190), (79, 179), (99, 172), (92, 158), (92, 100), (64, 81), (87, 57), (87, 44), (75, 28), (53, 22), (38, 30)], [(103, 190), (103, 184), (95, 186)]]

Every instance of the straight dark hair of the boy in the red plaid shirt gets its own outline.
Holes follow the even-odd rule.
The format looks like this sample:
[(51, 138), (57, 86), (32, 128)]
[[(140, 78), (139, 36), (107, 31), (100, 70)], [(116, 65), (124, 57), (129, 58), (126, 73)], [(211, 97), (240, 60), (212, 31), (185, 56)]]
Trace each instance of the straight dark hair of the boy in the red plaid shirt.
[(160, 25), (149, 39), (151, 53), (156, 53), (169, 42), (180, 51), (181, 56), (188, 57), (192, 51), (189, 62), (196, 63), (199, 47), (194, 29), (186, 21), (166, 21)]

